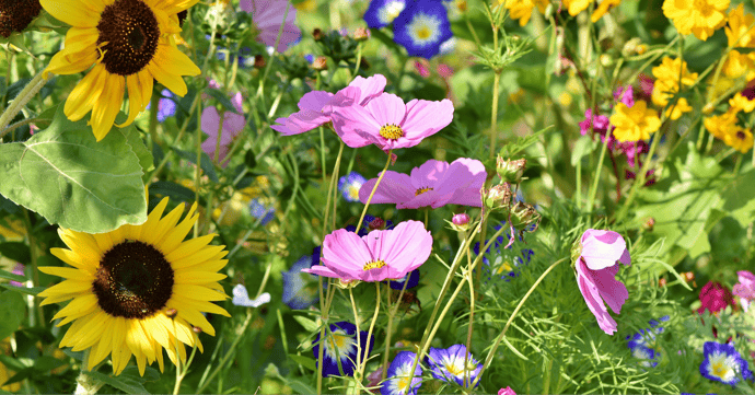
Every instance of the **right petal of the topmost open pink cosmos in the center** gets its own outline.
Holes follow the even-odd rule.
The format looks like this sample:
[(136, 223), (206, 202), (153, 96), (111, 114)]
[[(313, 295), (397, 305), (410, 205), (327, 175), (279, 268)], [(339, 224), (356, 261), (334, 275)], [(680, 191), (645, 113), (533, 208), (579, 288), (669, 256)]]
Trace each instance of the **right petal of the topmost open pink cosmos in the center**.
[(402, 123), (404, 137), (418, 140), (437, 133), (453, 120), (453, 103), (413, 100), (406, 105), (406, 118)]

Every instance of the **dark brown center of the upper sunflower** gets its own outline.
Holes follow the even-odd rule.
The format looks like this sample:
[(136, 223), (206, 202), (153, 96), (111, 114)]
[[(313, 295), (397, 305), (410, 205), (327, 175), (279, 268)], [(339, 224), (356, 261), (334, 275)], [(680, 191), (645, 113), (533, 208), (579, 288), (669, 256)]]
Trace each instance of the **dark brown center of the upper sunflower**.
[(97, 24), (97, 46), (105, 56), (107, 72), (130, 75), (149, 63), (158, 51), (160, 26), (154, 13), (141, 0), (116, 0), (105, 7)]

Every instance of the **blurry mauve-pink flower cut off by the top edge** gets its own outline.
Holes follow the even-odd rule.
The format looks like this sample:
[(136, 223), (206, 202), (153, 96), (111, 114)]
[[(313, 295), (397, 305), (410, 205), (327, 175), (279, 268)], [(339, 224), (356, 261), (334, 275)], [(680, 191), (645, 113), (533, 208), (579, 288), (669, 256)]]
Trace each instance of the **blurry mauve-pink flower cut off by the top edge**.
[(288, 0), (240, 0), (239, 5), (243, 11), (252, 14), (252, 21), (259, 31), (257, 42), (267, 46), (276, 45), (278, 30), (283, 23), (283, 15), (286, 15), (286, 24), (283, 24), (276, 50), (284, 51), (289, 44), (301, 37), (302, 33), (295, 24), (297, 9)]

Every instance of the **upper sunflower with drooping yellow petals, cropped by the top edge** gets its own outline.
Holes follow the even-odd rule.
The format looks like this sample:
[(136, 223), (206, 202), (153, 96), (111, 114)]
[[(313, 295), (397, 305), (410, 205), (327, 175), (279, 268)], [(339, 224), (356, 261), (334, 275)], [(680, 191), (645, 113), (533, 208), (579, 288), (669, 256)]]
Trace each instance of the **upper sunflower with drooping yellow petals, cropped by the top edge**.
[(153, 79), (183, 96), (182, 75), (198, 75), (199, 68), (175, 46), (181, 32), (179, 12), (198, 0), (40, 0), (42, 7), (72, 27), (66, 47), (45, 69), (48, 73), (74, 74), (92, 69), (66, 100), (71, 120), (92, 112), (92, 131), (105, 138), (120, 111), (128, 88), (128, 119), (147, 108)]

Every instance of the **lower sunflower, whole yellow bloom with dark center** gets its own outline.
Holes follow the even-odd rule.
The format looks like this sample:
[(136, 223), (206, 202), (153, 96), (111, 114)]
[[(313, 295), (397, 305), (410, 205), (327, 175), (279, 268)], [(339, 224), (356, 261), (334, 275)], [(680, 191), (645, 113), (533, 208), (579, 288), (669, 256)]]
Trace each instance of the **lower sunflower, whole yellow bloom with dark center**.
[(163, 371), (163, 348), (173, 363), (184, 362), (184, 345), (201, 351), (198, 334), (214, 336), (202, 312), (229, 316), (210, 303), (228, 298), (218, 283), (225, 278), (218, 272), (228, 263), (225, 246), (209, 245), (213, 234), (184, 241), (199, 217), (197, 205), (181, 223), (183, 206), (161, 219), (166, 205), (164, 198), (141, 225), (100, 234), (59, 230), (70, 249), (50, 253), (73, 267), (39, 268), (66, 279), (39, 297), (43, 305), (71, 300), (53, 320), (73, 323), (60, 347), (91, 348), (89, 370), (112, 353), (116, 374), (131, 355), (141, 374), (155, 359)]

